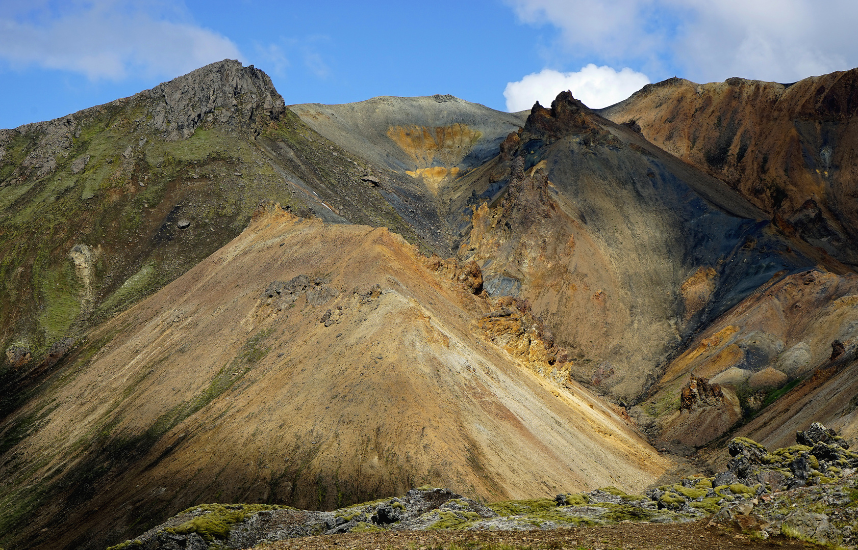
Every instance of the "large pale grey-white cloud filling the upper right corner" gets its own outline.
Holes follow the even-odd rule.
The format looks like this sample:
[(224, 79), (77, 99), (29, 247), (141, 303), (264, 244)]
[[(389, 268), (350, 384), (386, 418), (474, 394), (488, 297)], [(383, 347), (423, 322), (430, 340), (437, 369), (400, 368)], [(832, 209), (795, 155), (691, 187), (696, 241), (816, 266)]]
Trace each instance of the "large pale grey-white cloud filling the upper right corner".
[(567, 55), (695, 81), (790, 82), (858, 66), (854, 0), (507, 1), (522, 21), (559, 28)]

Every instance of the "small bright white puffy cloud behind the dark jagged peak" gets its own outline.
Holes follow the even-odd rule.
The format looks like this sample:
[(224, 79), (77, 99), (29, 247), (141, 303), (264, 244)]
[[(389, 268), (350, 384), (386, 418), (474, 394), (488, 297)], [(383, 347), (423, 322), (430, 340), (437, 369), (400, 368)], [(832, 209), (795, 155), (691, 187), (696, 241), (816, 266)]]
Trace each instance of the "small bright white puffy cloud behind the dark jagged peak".
[(530, 109), (536, 101), (547, 107), (558, 93), (569, 90), (584, 105), (601, 109), (622, 101), (649, 83), (647, 75), (628, 67), (618, 72), (611, 67), (596, 67), (590, 63), (577, 73), (542, 69), (520, 81), (509, 82), (504, 97), (506, 110), (515, 112)]

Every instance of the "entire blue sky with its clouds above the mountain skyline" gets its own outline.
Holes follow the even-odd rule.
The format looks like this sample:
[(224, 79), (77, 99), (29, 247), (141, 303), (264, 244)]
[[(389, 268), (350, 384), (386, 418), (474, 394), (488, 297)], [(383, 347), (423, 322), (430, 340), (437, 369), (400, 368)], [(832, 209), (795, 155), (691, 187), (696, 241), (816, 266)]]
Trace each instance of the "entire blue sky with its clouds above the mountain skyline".
[(856, 23), (842, 0), (0, 0), (0, 128), (224, 57), (265, 70), (287, 104), (452, 93), (517, 110), (571, 89), (599, 107), (674, 75), (850, 69)]

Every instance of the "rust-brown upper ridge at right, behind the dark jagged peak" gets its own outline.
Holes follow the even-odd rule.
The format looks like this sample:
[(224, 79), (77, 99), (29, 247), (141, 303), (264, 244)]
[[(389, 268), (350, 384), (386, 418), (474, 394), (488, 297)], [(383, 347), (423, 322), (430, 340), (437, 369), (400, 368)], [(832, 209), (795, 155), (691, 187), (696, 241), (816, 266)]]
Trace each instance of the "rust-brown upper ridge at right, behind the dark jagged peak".
[(795, 84), (650, 84), (601, 112), (722, 179), (814, 247), (858, 265), (858, 69)]

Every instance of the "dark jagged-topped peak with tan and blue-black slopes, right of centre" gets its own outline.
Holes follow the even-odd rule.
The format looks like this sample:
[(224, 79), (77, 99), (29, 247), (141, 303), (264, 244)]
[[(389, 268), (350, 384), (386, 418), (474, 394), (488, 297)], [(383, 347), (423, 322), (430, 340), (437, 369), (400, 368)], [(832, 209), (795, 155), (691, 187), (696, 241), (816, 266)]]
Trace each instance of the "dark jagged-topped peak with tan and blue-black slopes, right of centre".
[(762, 212), (723, 182), (569, 93), (536, 105), (508, 142), (509, 187), (474, 212), (460, 254), (490, 294), (529, 299), (572, 375), (612, 398), (645, 395), (701, 326), (776, 272), (815, 263), (784, 254)]

